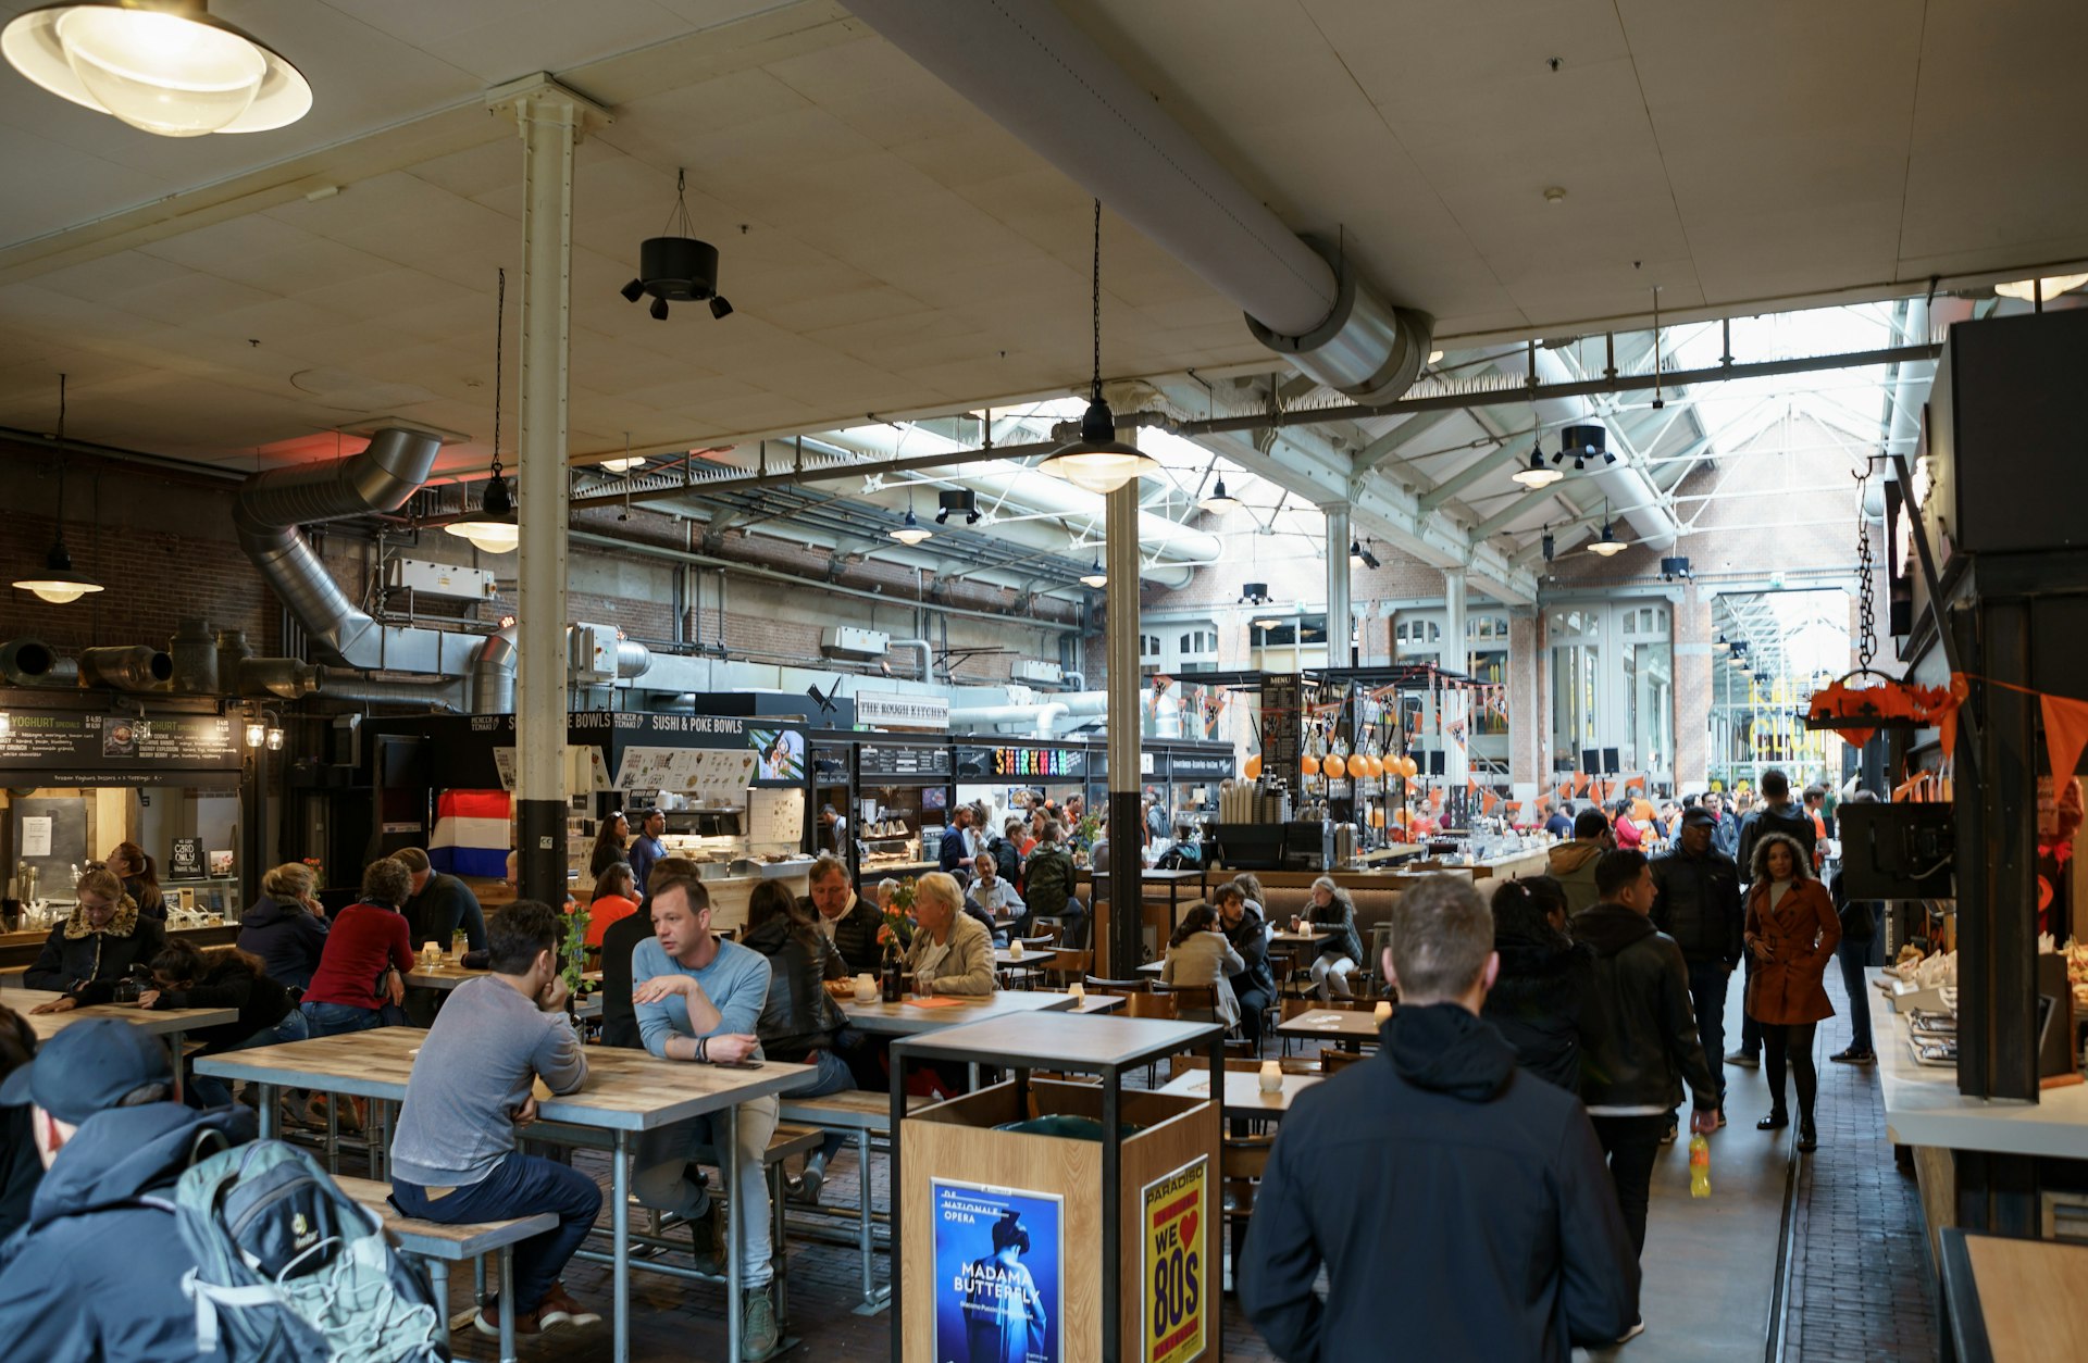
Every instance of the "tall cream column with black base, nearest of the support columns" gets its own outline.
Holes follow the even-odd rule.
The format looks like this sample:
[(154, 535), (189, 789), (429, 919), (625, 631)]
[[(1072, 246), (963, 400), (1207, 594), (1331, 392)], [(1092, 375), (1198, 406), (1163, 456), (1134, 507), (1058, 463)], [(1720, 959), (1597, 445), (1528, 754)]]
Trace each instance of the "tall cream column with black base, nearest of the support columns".
[[(522, 134), (522, 359), (516, 509), (516, 816), (520, 891), (566, 895), (566, 397), (572, 309), (572, 148), (608, 111), (545, 75), (487, 104)], [(622, 1311), (616, 1313), (618, 1334)]]

